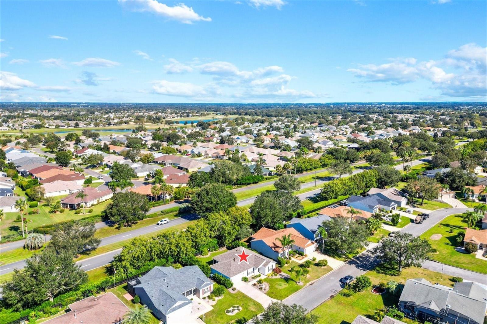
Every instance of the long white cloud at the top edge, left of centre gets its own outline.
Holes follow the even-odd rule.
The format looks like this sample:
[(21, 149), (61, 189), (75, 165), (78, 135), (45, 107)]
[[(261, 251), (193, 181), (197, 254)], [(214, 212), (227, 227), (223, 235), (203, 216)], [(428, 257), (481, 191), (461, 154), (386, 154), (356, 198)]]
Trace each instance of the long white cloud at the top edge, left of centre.
[(118, 3), (129, 7), (132, 11), (151, 12), (185, 24), (192, 24), (196, 21), (211, 21), (211, 18), (198, 15), (192, 7), (188, 7), (184, 3), (178, 3), (172, 7), (156, 0), (118, 0)]

